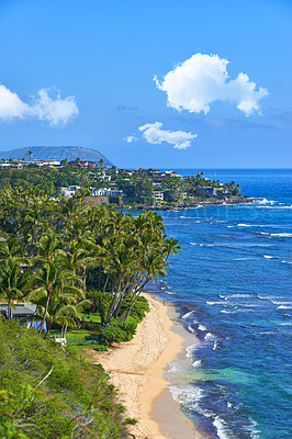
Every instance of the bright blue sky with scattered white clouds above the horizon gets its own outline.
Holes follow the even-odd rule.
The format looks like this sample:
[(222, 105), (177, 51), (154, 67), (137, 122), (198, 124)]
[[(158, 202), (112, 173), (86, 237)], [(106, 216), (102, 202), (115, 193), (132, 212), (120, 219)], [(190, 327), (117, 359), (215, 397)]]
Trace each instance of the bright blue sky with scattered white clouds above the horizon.
[(291, 0), (0, 0), (1, 150), (292, 168)]

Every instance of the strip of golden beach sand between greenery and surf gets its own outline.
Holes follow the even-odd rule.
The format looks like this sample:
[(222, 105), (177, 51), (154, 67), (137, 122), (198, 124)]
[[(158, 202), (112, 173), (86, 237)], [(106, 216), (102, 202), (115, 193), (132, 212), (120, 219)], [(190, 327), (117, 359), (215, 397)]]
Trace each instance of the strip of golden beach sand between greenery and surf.
[(125, 417), (138, 420), (130, 425), (136, 439), (201, 439), (203, 436), (179, 412), (162, 376), (168, 362), (176, 359), (186, 344), (183, 329), (176, 323), (172, 306), (149, 294), (146, 297), (150, 312), (138, 325), (132, 341), (119, 344), (109, 352), (88, 353), (91, 361), (103, 365), (111, 383), (119, 389)]

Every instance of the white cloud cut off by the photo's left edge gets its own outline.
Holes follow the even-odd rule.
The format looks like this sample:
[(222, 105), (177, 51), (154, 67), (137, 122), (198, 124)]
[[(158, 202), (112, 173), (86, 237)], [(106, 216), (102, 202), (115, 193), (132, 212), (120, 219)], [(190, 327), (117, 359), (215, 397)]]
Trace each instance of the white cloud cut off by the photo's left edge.
[(42, 89), (37, 97), (32, 98), (32, 103), (23, 102), (16, 93), (0, 85), (0, 119), (36, 117), (55, 126), (66, 124), (71, 117), (78, 115), (75, 97), (60, 98), (59, 91), (55, 98), (49, 94), (49, 89)]

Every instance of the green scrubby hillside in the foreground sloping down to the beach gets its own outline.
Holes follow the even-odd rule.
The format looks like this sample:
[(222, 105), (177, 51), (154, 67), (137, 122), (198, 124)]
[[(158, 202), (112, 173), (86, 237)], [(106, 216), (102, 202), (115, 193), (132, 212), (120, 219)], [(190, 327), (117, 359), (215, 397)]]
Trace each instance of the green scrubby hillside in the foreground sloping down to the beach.
[(1, 438), (125, 437), (123, 407), (108, 380), (74, 350), (0, 319)]

